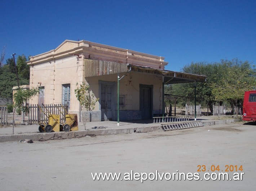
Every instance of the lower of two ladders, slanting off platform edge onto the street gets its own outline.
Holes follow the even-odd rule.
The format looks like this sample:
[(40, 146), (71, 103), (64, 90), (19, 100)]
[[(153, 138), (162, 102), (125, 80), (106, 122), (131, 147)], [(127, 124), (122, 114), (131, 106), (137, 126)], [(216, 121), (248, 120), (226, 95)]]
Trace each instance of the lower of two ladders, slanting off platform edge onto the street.
[(201, 121), (184, 121), (176, 123), (161, 124), (164, 131), (168, 130), (177, 130), (177, 129), (186, 129), (192, 127), (201, 127), (203, 126)]

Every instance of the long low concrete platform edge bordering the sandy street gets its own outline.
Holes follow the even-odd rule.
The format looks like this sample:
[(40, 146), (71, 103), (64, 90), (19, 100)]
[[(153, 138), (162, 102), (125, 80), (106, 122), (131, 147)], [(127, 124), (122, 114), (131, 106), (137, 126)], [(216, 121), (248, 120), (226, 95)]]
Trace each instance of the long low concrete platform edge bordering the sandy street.
[[(203, 126), (206, 125), (220, 125), (228, 124), (233, 122), (239, 122), (240, 119), (220, 120), (220, 121), (201, 121)], [(50, 132), (50, 133), (33, 133), (33, 134), (18, 134), (18, 135), (0, 135), (0, 142), (6, 141), (19, 141), (30, 139), (33, 141), (46, 141), (46, 140), (60, 140), (60, 139), (72, 139), (82, 138), (85, 136), (101, 136), (101, 135), (117, 135), (117, 134), (128, 134), (134, 132), (149, 132), (163, 130), (162, 126), (152, 127), (133, 127), (125, 129), (98, 129), (98, 130), (83, 130), (83, 131), (70, 131), (70, 132)]]

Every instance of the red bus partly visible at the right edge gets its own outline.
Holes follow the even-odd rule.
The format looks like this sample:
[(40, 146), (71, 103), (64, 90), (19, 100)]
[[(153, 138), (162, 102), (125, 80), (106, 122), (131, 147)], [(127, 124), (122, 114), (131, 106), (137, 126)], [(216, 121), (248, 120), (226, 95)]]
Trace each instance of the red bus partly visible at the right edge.
[(244, 92), (243, 120), (256, 121), (256, 90)]

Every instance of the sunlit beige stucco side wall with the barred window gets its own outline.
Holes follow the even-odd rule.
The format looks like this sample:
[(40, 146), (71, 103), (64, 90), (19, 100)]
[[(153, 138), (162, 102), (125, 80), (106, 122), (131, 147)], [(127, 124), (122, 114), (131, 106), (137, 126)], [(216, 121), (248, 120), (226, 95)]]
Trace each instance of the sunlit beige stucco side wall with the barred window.
[[(76, 83), (83, 80), (83, 61), (77, 64), (75, 56), (30, 67), (30, 87), (44, 87), (44, 103), (62, 103), (62, 84), (70, 84), (70, 113), (79, 113), (79, 102), (75, 97)], [(38, 97), (30, 101), (38, 103)]]

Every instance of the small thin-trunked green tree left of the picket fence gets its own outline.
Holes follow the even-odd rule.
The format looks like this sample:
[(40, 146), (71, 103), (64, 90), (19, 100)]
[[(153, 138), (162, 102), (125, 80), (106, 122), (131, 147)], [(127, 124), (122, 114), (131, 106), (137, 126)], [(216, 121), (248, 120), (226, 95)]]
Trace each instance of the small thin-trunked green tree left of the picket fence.
[(32, 89), (17, 89), (17, 92), (13, 95), (13, 134), (14, 134), (14, 113), (17, 108), (21, 108), (23, 112), (29, 112), (29, 108), (26, 103), (27, 99), (30, 99), (34, 96), (36, 96), (39, 93), (38, 88), (32, 88)]

